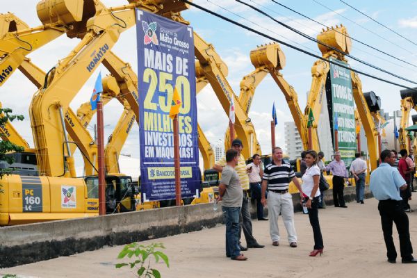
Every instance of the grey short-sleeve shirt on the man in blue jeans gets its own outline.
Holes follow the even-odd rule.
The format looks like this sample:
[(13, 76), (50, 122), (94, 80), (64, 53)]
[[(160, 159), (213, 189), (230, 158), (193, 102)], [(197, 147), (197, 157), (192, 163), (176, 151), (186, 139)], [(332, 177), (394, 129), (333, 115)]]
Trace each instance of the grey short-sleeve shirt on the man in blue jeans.
[(226, 186), (226, 192), (222, 199), (222, 206), (228, 208), (242, 206), (243, 191), (240, 186), (238, 173), (233, 167), (230, 167), (229, 165), (224, 166), (220, 183)]

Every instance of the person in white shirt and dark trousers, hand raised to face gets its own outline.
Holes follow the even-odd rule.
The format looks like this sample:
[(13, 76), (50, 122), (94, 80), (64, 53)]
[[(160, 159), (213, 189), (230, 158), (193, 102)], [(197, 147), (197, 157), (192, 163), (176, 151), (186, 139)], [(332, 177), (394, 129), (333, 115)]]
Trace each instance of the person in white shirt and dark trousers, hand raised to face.
[(256, 199), (256, 215), (258, 220), (268, 220), (263, 217), (263, 205), (261, 203), (261, 178), (263, 176), (262, 161), (259, 154), (252, 156), (252, 163), (249, 163), (246, 168), (249, 171), (250, 195), (252, 199)]

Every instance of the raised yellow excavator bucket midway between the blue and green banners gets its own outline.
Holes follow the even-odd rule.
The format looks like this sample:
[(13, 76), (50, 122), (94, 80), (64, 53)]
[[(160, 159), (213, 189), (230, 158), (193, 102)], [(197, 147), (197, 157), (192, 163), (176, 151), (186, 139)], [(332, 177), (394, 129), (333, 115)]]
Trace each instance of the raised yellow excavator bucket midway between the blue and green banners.
[(254, 67), (266, 66), (282, 70), (285, 67), (285, 55), (279, 44), (265, 44), (250, 51), (250, 61)]

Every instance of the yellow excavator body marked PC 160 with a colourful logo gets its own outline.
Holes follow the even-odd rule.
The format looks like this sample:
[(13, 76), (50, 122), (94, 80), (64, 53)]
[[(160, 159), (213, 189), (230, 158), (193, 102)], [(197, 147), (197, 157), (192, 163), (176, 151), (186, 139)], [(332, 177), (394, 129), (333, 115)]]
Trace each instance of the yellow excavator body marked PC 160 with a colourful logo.
[(0, 179), (0, 186), (0, 226), (99, 213), (99, 200), (83, 179), (12, 174)]

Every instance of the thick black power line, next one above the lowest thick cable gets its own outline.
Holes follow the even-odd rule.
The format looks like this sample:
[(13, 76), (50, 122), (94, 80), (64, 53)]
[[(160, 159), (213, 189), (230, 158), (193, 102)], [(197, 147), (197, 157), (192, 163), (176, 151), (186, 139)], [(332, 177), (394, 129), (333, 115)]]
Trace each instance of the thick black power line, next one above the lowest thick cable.
[(390, 74), (391, 76), (395, 76), (395, 77), (397, 77), (398, 79), (402, 79), (402, 80), (404, 80), (404, 81), (407, 81), (407, 82), (410, 82), (410, 83), (417, 84), (417, 82), (416, 82), (416, 81), (411, 81), (410, 79), (406, 79), (406, 78), (404, 78), (404, 77), (402, 77), (402, 76), (399, 76), (398, 74), (393, 74), (392, 72), (389, 72), (389, 71), (387, 71), (387, 70), (384, 70), (384, 69), (382, 69), (381, 67), (377, 67), (377, 66), (375, 66), (375, 65), (372, 65), (372, 64), (370, 64), (370, 63), (368, 63), (368, 62), (366, 62), (366, 61), (364, 61), (364, 60), (361, 60), (361, 59), (356, 58), (356, 57), (354, 57), (354, 56), (352, 56), (352, 55), (350, 55), (350, 54), (347, 54), (347, 53), (346, 53), (346, 52), (344, 52), (344, 51), (341, 51), (341, 50), (339, 50), (339, 49), (336, 49), (335, 47), (332, 47), (332, 46), (330, 46), (330, 45), (328, 45), (328, 44), (325, 44), (324, 42), (321, 42), (320, 40), (316, 40), (316, 38), (313, 38), (313, 37), (311, 37), (310, 35), (306, 35), (305, 33), (302, 33), (301, 31), (298, 31), (297, 29), (295, 29), (295, 28), (293, 28), (293, 27), (291, 27), (291, 26), (288, 26), (288, 25), (287, 25), (287, 24), (285, 24), (284, 22), (280, 22), (279, 20), (275, 19), (274, 17), (272, 17), (272, 16), (268, 15), (268, 13), (265, 13), (263, 10), (260, 10), (259, 8), (256, 8), (256, 7), (252, 6), (252, 5), (250, 5), (249, 3), (245, 3), (245, 2), (243, 2), (243, 1), (241, 1), (241, 0), (236, 0), (236, 2), (238, 2), (238, 3), (242, 3), (243, 5), (248, 6), (248, 7), (252, 8), (253, 10), (256, 10), (258, 13), (261, 13), (261, 15), (265, 15), (266, 17), (269, 17), (269, 18), (270, 18), (270, 19), (272, 19), (273, 21), (275, 21), (275, 22), (277, 22), (278, 24), (280, 24), (280, 25), (282, 25), (282, 26), (284, 26), (284, 27), (286, 27), (286, 28), (290, 29), (291, 31), (293, 31), (293, 32), (297, 33), (298, 35), (301, 35), (301, 36), (302, 36), (302, 37), (304, 37), (304, 38), (307, 38), (307, 39), (309, 39), (309, 40), (313, 40), (313, 42), (317, 42), (318, 44), (321, 44), (321, 45), (322, 45), (322, 46), (324, 46), (324, 47), (328, 47), (329, 49), (332, 49), (332, 50), (334, 50), (334, 51), (336, 51), (336, 52), (338, 52), (338, 53), (340, 53), (340, 54), (343, 54), (343, 55), (345, 55), (345, 56), (347, 56), (347, 57), (350, 57), (350, 58), (352, 58), (353, 60), (357, 60), (359, 63), (362, 63), (363, 65), (367, 65), (368, 67), (373, 67), (373, 69), (375, 69), (375, 70), (379, 70), (380, 72), (384, 72), (384, 73), (386, 73), (386, 74)]

